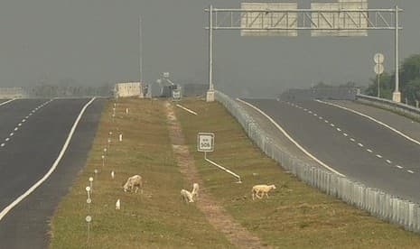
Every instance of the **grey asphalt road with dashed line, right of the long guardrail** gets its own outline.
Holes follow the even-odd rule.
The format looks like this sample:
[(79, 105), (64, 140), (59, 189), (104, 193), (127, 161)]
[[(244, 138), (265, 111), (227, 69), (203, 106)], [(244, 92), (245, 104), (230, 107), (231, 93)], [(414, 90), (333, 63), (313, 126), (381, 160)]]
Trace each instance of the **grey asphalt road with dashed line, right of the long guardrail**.
[[(305, 150), (334, 170), (371, 188), (420, 203), (419, 144), (337, 106), (316, 101), (246, 101), (271, 116)], [(347, 106), (351, 107), (349, 103)], [(373, 112), (370, 106), (357, 108), (360, 112)], [(398, 130), (415, 133), (415, 124), (409, 119), (397, 120), (395, 114), (385, 111), (380, 113), (380, 119), (396, 124)]]

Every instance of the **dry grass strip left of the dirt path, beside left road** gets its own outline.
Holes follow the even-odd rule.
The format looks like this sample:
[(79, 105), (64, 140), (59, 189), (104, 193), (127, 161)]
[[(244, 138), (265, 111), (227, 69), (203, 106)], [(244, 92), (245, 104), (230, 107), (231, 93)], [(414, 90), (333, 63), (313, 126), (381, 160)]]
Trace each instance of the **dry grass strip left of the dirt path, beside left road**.
[[(124, 110), (129, 107), (130, 114)], [(180, 198), (184, 182), (173, 159), (161, 101), (124, 99), (110, 121), (112, 102), (105, 106), (85, 168), (51, 219), (51, 248), (226, 248), (231, 245), (193, 205)], [(123, 118), (121, 118), (123, 117)], [(113, 131), (105, 168), (101, 155)], [(122, 131), (123, 143), (116, 142)], [(115, 144), (117, 143), (117, 144)], [(89, 177), (93, 203), (86, 204)], [(112, 180), (110, 171), (116, 171)], [(125, 193), (121, 185), (134, 174), (145, 180), (144, 194)], [(121, 210), (115, 210), (117, 198)], [(89, 243), (85, 217), (93, 218)]]

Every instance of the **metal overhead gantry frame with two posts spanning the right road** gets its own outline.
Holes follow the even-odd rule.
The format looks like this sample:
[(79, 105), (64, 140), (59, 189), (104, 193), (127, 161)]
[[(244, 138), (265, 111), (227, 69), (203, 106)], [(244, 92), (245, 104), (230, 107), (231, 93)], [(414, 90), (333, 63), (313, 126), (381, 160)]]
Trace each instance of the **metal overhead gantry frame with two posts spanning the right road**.
[[(213, 84), (213, 31), (215, 30), (237, 30), (237, 31), (372, 31), (372, 30), (387, 30), (395, 31), (395, 70), (396, 70), (396, 81), (395, 91), (393, 93), (393, 100), (401, 102), (401, 93), (399, 92), (399, 55), (398, 55), (398, 32), (403, 29), (399, 23), (399, 13), (403, 12), (402, 9), (396, 6), (394, 9), (339, 9), (339, 10), (313, 10), (313, 9), (290, 9), (290, 10), (278, 10), (278, 9), (218, 9), (210, 5), (209, 8), (204, 10), (209, 13), (209, 26), (206, 30), (209, 31), (209, 91), (207, 95), (207, 101), (214, 101), (211, 98), (211, 93), (214, 93)], [(299, 20), (298, 26), (275, 26), (275, 23), (265, 23), (261, 28), (254, 26), (242, 26), (240, 20), (247, 14), (258, 13), (257, 16), (266, 18), (266, 15), (273, 14), (284, 14), (287, 17), (289, 14), (297, 14), (297, 20)], [(334, 28), (333, 25), (328, 27), (320, 27), (314, 20), (313, 14), (318, 17), (325, 18), (328, 14), (341, 14), (351, 16), (351, 14), (360, 14), (360, 17), (368, 23), (367, 27), (350, 27), (350, 28)], [(319, 19), (319, 18), (318, 18)], [(266, 20), (266, 19), (262, 19)], [(261, 22), (263, 23), (263, 22)]]

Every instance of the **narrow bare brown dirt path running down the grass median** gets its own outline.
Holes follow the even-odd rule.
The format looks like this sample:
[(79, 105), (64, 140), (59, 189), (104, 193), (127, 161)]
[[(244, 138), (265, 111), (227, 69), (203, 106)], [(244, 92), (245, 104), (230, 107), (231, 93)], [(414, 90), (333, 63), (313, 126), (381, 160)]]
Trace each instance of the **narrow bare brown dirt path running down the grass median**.
[[(164, 105), (168, 119), (169, 134), (173, 143), (173, 154), (178, 162), (180, 171), (184, 178), (190, 181), (191, 184), (192, 182), (197, 182), (203, 186), (201, 177), (195, 168), (194, 158), (188, 151), (188, 145), (185, 144), (181, 124), (176, 119), (173, 106), (169, 102), (166, 102)], [(261, 241), (256, 235), (252, 235), (245, 227), (235, 221), (225, 208), (215, 198), (211, 197), (208, 191), (202, 190), (199, 201), (194, 203), (207, 217), (211, 226), (214, 226), (226, 235), (231, 244), (234, 244), (238, 248), (267, 247), (261, 244)]]

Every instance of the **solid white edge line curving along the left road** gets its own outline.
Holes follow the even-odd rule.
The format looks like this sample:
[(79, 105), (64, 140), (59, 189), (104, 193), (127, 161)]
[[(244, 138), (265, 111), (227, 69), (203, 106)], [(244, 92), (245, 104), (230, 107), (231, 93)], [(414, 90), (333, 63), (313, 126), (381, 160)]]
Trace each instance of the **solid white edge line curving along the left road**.
[(93, 97), (85, 106), (83, 106), (83, 108), (81, 109), (79, 116), (76, 118), (76, 121), (74, 122), (73, 126), (71, 127), (70, 130), (70, 134), (66, 139), (66, 142), (64, 143), (64, 145), (62, 146), (61, 152), (59, 154), (59, 157), (54, 161), (54, 163), (51, 166), (50, 171), (48, 171), (41, 180), (38, 180), (30, 189), (26, 190), (26, 192), (23, 193), (23, 195), (21, 195), (20, 197), (16, 198), (11, 204), (9, 204), (5, 209), (3, 209), (3, 211), (0, 213), (0, 221), (5, 217), (5, 215), (7, 215), (8, 212), (10, 212), (10, 210), (12, 210), (12, 208), (14, 208), (16, 205), (18, 205), (24, 198), (28, 197), (35, 189), (37, 189), (38, 187), (41, 186), (41, 184), (47, 180), (53, 171), (55, 171), (55, 169), (57, 168), (57, 165), (60, 163), (61, 158), (64, 155), (64, 152), (67, 151), (67, 147), (69, 147), (71, 138), (73, 137), (74, 132), (76, 131), (76, 128), (79, 124), (79, 121), (81, 119), (81, 116), (85, 113), (86, 109), (88, 108), (88, 106), (90, 106), (90, 104), (92, 104), (92, 102), (95, 100), (96, 97)]

